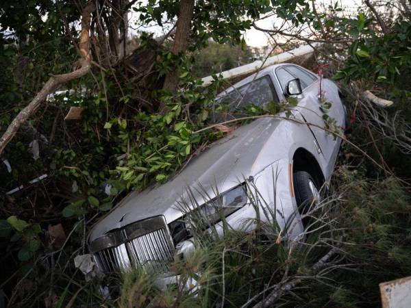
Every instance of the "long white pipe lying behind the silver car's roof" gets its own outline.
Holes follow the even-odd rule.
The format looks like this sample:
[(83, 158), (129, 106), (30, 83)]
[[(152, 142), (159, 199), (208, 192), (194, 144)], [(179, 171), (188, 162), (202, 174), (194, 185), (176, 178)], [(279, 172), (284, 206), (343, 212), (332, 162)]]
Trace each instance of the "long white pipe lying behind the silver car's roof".
[[(319, 47), (320, 45), (321, 45), (320, 43), (312, 44), (313, 47)], [(254, 73), (257, 70), (265, 68), (266, 66), (270, 66), (273, 64), (277, 64), (277, 63), (283, 63), (288, 60), (291, 60), (294, 57), (301, 57), (301, 55), (307, 55), (312, 52), (314, 52), (314, 49), (310, 45), (303, 45), (296, 49), (292, 49), (284, 53), (279, 53), (278, 55), (274, 55), (273, 57), (268, 57), (266, 62), (264, 62), (264, 64), (263, 64), (263, 61), (257, 60), (250, 64), (245, 64), (243, 66), (232, 68), (231, 70), (225, 70), (224, 72), (220, 74), (216, 74), (216, 75), (222, 75), (224, 79), (230, 79), (233, 77), (246, 75), (249, 73)], [(212, 83), (214, 79), (212, 78), (212, 76), (208, 76), (208, 77), (204, 77), (201, 80), (203, 81), (203, 86), (208, 86)]]

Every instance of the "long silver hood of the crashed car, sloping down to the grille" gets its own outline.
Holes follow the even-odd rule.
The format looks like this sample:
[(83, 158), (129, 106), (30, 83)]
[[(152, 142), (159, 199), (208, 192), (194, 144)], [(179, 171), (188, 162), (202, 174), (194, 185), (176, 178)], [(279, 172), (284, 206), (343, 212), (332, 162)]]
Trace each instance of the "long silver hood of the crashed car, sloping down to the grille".
[[(179, 202), (188, 200), (188, 190), (197, 203), (203, 196), (213, 198), (216, 189), (225, 192), (272, 162), (262, 162), (258, 155), (279, 124), (275, 118), (259, 118), (242, 125), (209, 149), (194, 157), (177, 176), (163, 185), (126, 196), (110, 214), (95, 224), (89, 241), (112, 229), (153, 216), (164, 215), (169, 223), (182, 216)], [(180, 207), (181, 208), (181, 207)]]

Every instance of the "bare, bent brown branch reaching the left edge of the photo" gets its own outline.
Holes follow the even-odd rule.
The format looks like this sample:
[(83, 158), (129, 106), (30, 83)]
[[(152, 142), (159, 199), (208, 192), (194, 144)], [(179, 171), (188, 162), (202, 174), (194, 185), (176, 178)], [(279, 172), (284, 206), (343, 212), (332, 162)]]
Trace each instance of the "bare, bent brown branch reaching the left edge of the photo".
[(90, 21), (91, 13), (94, 10), (94, 3), (89, 1), (82, 12), (82, 31), (80, 32), (79, 39), (79, 53), (81, 59), (76, 62), (77, 69), (71, 73), (52, 75), (45, 86), (38, 92), (36, 97), (34, 97), (34, 99), (18, 113), (0, 138), (0, 156), (3, 153), (5, 146), (7, 146), (7, 144), (14, 138), (21, 125), (23, 125), (23, 123), (36, 112), (38, 107), (40, 107), (46, 100), (47, 95), (55, 92), (55, 90), (60, 88), (63, 84), (86, 75), (90, 70)]

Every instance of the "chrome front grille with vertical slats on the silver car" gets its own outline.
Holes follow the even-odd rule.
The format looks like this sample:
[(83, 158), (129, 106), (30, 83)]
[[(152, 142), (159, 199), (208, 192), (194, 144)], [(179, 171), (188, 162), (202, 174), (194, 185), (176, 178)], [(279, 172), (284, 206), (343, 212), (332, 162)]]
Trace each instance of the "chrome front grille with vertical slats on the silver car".
[(103, 272), (140, 266), (167, 272), (174, 246), (163, 216), (134, 222), (97, 238), (89, 245)]

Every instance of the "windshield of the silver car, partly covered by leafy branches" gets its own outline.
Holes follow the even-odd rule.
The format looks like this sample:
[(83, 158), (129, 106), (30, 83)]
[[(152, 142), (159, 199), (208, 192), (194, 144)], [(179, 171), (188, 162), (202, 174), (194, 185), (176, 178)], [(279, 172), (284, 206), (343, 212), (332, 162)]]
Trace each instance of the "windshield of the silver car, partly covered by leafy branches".
[(279, 99), (269, 76), (251, 81), (234, 88), (214, 103), (214, 122), (232, 120), (247, 116), (247, 107), (264, 107), (267, 103), (278, 103)]

